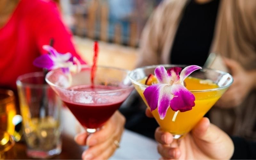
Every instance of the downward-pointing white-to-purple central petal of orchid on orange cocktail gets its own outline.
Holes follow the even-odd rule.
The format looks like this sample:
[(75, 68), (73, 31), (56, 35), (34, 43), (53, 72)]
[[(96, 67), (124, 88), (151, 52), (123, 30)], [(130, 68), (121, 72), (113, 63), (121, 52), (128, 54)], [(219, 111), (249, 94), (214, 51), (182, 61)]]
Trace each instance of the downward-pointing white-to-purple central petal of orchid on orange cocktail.
[(158, 99), (158, 113), (160, 119), (164, 119), (168, 108), (170, 107), (170, 101), (173, 97), (171, 94), (172, 86), (171, 85), (164, 85), (161, 87), (160, 95)]

